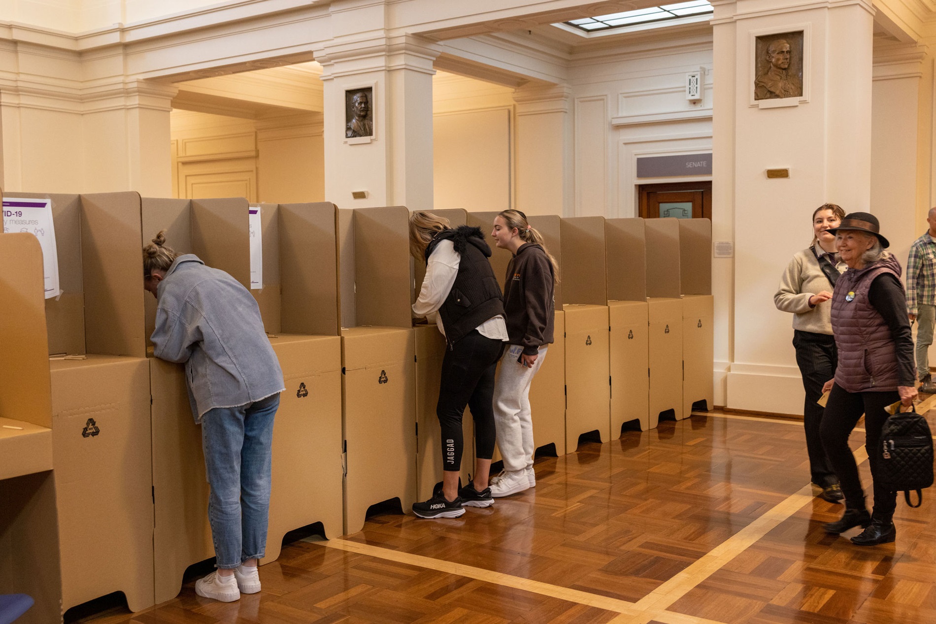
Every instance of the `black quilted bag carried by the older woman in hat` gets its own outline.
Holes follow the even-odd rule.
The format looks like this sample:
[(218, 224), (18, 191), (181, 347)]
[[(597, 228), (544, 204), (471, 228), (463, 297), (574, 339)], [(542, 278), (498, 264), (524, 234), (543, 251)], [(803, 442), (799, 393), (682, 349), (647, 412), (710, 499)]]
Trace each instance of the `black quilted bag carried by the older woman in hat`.
[[(933, 485), (933, 438), (926, 418), (914, 412), (889, 416), (881, 428), (882, 485), (903, 492), (911, 507), (923, 503), (923, 488)], [(910, 493), (916, 491), (916, 504)]]

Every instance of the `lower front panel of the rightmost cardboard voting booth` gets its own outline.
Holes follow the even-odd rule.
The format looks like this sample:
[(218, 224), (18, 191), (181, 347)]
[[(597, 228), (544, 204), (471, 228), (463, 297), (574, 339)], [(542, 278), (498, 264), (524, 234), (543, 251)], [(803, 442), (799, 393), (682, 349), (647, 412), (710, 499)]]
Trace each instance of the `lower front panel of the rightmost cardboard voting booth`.
[(683, 414), (692, 414), (693, 403), (715, 401), (714, 300), (711, 295), (682, 297), (682, 403)]

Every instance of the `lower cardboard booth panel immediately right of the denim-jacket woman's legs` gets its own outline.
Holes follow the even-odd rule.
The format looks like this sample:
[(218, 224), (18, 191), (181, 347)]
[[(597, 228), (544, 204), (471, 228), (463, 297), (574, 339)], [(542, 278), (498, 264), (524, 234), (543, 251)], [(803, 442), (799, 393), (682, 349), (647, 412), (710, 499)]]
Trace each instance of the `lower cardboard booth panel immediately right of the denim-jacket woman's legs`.
[(321, 522), (344, 530), (342, 501), (342, 344), (337, 336), (270, 339), (283, 369), (273, 428), (270, 528), (266, 557), (277, 559), (287, 532)]

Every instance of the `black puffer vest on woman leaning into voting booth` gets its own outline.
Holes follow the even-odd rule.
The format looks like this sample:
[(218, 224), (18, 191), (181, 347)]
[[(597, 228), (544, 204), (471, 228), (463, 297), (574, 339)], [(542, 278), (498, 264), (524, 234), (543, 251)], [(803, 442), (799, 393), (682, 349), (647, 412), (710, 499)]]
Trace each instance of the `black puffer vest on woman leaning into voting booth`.
[(426, 247), (427, 264), (432, 251), (443, 240), (451, 240), (461, 256), (455, 283), (439, 308), (448, 348), (451, 349), (475, 327), (498, 314), (503, 316), (504, 297), (490, 268), (490, 247), (480, 227), (460, 225), (439, 232)]

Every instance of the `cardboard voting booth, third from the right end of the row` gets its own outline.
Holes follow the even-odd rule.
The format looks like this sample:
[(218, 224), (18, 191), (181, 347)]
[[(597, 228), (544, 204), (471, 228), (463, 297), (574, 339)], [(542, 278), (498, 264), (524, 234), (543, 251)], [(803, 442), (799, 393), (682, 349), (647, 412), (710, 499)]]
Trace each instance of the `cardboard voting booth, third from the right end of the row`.
[(607, 306), (610, 329), (611, 436), (624, 425), (646, 430), (650, 401), (650, 332), (644, 220), (607, 219)]

